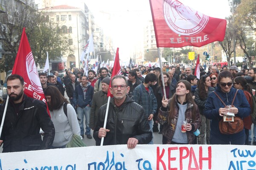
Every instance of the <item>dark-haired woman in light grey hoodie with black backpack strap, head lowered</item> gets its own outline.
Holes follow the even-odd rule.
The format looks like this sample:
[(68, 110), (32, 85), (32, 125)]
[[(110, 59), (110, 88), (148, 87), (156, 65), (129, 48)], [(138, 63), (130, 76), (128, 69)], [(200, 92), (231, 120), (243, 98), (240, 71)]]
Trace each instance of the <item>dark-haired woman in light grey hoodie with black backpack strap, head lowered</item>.
[[(48, 86), (44, 90), (44, 95), (55, 127), (52, 148), (64, 148), (72, 140), (73, 135), (80, 137), (76, 111), (55, 86)], [(64, 105), (65, 103), (67, 105)], [(64, 108), (65, 106), (66, 108)], [(67, 115), (64, 113), (64, 109), (67, 109)]]

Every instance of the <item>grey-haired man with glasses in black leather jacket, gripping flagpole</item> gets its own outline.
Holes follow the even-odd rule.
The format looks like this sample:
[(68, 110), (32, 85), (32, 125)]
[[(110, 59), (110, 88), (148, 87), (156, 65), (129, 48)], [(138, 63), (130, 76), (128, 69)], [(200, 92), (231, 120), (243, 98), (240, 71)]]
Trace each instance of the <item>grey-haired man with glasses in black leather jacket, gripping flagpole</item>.
[(142, 106), (138, 105), (127, 93), (130, 87), (124, 76), (114, 76), (111, 81), (111, 98), (106, 128), (103, 128), (107, 105), (99, 109), (93, 138), (96, 144), (104, 137), (103, 145), (127, 144), (133, 149), (137, 144), (148, 144), (152, 132)]

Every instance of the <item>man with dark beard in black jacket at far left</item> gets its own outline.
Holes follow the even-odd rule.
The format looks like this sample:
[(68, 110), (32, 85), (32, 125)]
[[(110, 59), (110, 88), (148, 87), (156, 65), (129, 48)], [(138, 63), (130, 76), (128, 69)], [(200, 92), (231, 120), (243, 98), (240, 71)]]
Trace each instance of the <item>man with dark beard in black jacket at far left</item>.
[[(6, 81), (9, 103), (0, 140), (3, 153), (48, 149), (52, 145), (55, 129), (46, 104), (24, 94), (24, 79), (20, 75), (13, 74)], [(0, 105), (1, 120), (5, 105)], [(44, 130), (43, 140), (40, 128)]]

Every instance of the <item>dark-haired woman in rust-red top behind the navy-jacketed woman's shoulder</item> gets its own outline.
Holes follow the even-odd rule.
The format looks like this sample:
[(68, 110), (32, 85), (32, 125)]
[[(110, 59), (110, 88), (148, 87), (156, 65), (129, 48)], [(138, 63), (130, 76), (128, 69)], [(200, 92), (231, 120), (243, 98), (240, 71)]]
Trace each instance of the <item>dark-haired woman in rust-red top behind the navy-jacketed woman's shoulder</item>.
[[(242, 76), (236, 77), (234, 79), (233, 85), (234, 85), (234, 88), (241, 89), (242, 91), (244, 91), (244, 95), (250, 104), (251, 111), (253, 111), (253, 97), (252, 97), (252, 94), (250, 94), (251, 92), (250, 85), (247, 83), (246, 79), (244, 79), (244, 77)], [(251, 129), (251, 126), (253, 124), (252, 116), (249, 115), (247, 117), (244, 117), (243, 122), (244, 122), (244, 131), (246, 135), (245, 144), (250, 145), (249, 130)]]

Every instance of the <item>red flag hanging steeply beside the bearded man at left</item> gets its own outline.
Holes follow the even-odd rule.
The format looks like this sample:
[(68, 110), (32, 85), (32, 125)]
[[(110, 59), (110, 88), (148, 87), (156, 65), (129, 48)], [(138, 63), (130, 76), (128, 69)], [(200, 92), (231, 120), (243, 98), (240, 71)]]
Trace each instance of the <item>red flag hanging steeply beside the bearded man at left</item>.
[[(19, 50), (15, 59), (12, 74), (18, 74), (24, 79), (26, 86), (24, 93), (32, 98), (46, 102), (44, 91), (38, 76), (38, 71), (35, 66), (35, 60), (26, 36), (25, 28), (20, 39)], [(47, 111), (49, 114), (48, 106)]]

